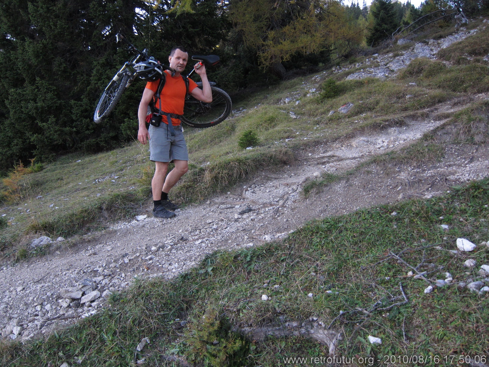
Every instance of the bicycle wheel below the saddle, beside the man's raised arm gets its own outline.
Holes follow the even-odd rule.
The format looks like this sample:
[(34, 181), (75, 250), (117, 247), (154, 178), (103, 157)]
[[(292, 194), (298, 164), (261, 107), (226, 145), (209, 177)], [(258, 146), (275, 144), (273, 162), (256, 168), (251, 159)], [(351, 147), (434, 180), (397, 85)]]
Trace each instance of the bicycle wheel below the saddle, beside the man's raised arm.
[(182, 122), (185, 125), (206, 128), (224, 121), (231, 112), (232, 102), (222, 89), (211, 87), (212, 102), (205, 103), (192, 96), (185, 100)]

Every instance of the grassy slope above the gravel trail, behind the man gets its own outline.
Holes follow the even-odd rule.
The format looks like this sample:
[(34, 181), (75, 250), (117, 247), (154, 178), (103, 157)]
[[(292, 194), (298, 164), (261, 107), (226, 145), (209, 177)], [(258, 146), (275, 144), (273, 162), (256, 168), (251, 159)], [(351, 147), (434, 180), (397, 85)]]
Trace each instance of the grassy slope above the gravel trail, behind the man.
[[(447, 48), (441, 57), (460, 56), (459, 63), (450, 68), (437, 61), (417, 60), (399, 80), (387, 81), (342, 80), (351, 70), (334, 74), (340, 93), (333, 98), (324, 98), (321, 93), (308, 97), (311, 88), (318, 87), (311, 77), (289, 80), (250, 95), (233, 106), (244, 112), (212, 129), (186, 129), (190, 171), (172, 190), (173, 199), (180, 204), (206, 199), (261, 168), (290, 163), (294, 150), (301, 146), (402, 125), (406, 115), (422, 115), (420, 110), (451, 97), (487, 92), (489, 67), (474, 45), (485, 45), (488, 36), (486, 29), (462, 46)], [(328, 74), (321, 78), (324, 81)], [(279, 104), (286, 97), (292, 101)], [(354, 101), (355, 107), (347, 115), (328, 116), (349, 101)], [(290, 112), (299, 118), (292, 118)], [(261, 143), (243, 150), (238, 140), (248, 130), (255, 131)], [(42, 172), (24, 176), (16, 192), (21, 198), (0, 213), (5, 214), (0, 217), (0, 227), (7, 227), (0, 232), (0, 251), (15, 253), (17, 247), (13, 245), (26, 243), (25, 230), (66, 237), (80, 229), (101, 228), (106, 219), (141, 213), (141, 205), (149, 199), (152, 173), (147, 147), (134, 142), (98, 155), (69, 155)]]

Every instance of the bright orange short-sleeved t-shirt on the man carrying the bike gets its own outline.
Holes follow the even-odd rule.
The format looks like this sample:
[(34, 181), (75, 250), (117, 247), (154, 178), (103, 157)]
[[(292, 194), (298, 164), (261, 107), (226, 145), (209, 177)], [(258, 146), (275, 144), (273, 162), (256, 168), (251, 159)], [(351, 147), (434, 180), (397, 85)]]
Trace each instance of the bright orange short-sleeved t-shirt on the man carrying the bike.
[[(185, 87), (185, 82), (181, 75), (174, 76), (170, 74), (169, 71), (165, 70), (165, 86), (161, 90), (158, 102), (156, 103), (156, 108), (160, 109), (159, 103), (161, 101), (161, 111), (168, 112), (169, 114), (183, 115), (183, 105), (185, 103), (185, 93), (187, 89)], [(188, 92), (191, 93), (195, 88), (197, 88), (197, 83), (192, 79), (188, 79)], [(158, 89), (159, 80), (154, 82), (148, 82), (146, 88), (152, 90), (156, 93)], [(168, 123), (166, 116), (162, 116), (162, 121)], [(178, 126), (180, 120), (178, 118), (172, 118), (172, 125)]]

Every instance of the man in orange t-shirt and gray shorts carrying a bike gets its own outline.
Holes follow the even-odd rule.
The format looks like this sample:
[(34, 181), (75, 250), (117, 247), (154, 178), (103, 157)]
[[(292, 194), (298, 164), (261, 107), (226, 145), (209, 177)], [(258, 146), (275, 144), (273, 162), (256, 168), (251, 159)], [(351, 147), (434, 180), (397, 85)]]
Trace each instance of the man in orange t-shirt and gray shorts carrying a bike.
[[(168, 193), (188, 171), (187, 144), (183, 138), (179, 118), (183, 115), (187, 92), (181, 73), (187, 65), (188, 53), (183, 47), (174, 47), (168, 57), (168, 61), (170, 62), (170, 68), (175, 71), (163, 71), (165, 73), (165, 84), (155, 106), (159, 109), (161, 123), (154, 124), (152, 122), (149, 130), (146, 128), (148, 105), (155, 97), (159, 80), (147, 83), (137, 113), (139, 120), (137, 139), (141, 144), (146, 144), (149, 140), (150, 160), (154, 161), (156, 165), (155, 175), (151, 181), (154, 202), (153, 215), (156, 218), (172, 218), (176, 215), (173, 210), (178, 207), (168, 199)], [(202, 89), (198, 88), (197, 84), (189, 79), (188, 92), (202, 102), (212, 102), (212, 92), (207, 80), (205, 66), (202, 63), (198, 63), (194, 66), (194, 69), (200, 75)], [(168, 164), (172, 161), (175, 164), (175, 168), (167, 175)]]

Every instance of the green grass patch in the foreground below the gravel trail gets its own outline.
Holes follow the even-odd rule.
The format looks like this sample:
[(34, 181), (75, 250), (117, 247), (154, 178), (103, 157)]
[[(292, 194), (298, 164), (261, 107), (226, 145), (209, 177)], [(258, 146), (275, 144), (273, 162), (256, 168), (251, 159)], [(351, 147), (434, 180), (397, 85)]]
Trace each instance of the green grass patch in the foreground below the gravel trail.
[[(328, 349), (302, 337), (248, 340), (239, 330), (310, 317), (342, 332), (339, 356), (487, 355), (488, 296), (456, 284), (424, 294), (428, 283), (407, 275), (416, 268), (428, 279), (449, 272), (465, 282), (479, 276), (478, 267), (463, 266), (466, 258), (487, 262), (485, 245), (460, 257), (448, 250), (459, 237), (487, 239), (489, 179), (451, 191), (315, 220), (282, 243), (211, 254), (172, 281), (136, 280), (80, 324), (46, 340), (2, 344), (1, 364), (131, 366), (144, 357), (146, 366), (177, 366), (172, 357), (209, 367), (287, 366), (284, 357), (327, 356)], [(368, 343), (369, 335), (382, 344)], [(143, 337), (151, 346), (135, 352)]]

